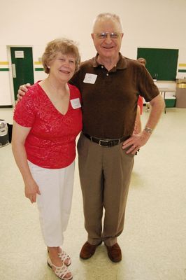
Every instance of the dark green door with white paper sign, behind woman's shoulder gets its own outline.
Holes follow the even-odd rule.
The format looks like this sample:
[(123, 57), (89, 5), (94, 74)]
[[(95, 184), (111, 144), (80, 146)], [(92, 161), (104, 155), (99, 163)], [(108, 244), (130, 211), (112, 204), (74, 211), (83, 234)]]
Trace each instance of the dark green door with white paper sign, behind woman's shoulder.
[(34, 83), (34, 68), (32, 48), (10, 47), (14, 97), (17, 99), (17, 91), (24, 83)]

